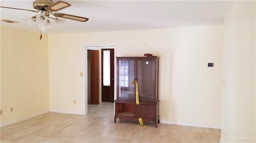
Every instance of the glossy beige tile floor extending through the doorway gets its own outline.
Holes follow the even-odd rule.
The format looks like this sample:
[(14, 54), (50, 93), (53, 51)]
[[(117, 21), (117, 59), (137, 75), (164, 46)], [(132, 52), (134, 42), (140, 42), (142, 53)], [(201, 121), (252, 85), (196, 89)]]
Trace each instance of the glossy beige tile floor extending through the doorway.
[(1, 128), (1, 143), (219, 143), (220, 129), (117, 119), (114, 104), (88, 105), (88, 115), (49, 112)]

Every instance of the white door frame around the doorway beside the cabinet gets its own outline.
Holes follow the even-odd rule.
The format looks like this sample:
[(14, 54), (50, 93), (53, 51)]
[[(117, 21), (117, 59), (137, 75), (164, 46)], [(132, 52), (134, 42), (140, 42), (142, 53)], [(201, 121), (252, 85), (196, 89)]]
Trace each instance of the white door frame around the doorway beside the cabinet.
[[(86, 44), (84, 47), (84, 81), (85, 81), (85, 114), (88, 114), (88, 60), (87, 50), (114, 49), (114, 57), (116, 57), (116, 44)], [(101, 52), (100, 52), (101, 53)], [(101, 54), (100, 54), (101, 59)], [(114, 59), (114, 73), (116, 73), (116, 59)], [(114, 74), (114, 81), (116, 81), (116, 74)], [(101, 102), (101, 60), (100, 60), (100, 102)], [(116, 100), (116, 82), (114, 82), (114, 100)], [(113, 109), (114, 110), (114, 109)]]

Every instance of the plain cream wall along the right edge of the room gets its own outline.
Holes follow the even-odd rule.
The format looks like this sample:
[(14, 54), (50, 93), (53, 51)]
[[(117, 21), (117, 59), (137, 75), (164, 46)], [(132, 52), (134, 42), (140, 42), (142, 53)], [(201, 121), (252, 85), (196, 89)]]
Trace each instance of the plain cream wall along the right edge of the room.
[(222, 142), (256, 141), (255, 12), (255, 1), (235, 1), (225, 18)]

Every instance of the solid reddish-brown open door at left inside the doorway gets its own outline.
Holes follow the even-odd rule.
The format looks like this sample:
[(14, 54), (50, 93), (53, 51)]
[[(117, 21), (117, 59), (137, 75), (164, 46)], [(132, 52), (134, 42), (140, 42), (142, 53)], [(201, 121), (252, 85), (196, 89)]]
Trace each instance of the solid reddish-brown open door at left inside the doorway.
[(91, 104), (100, 104), (100, 62), (99, 51), (90, 50), (90, 100)]

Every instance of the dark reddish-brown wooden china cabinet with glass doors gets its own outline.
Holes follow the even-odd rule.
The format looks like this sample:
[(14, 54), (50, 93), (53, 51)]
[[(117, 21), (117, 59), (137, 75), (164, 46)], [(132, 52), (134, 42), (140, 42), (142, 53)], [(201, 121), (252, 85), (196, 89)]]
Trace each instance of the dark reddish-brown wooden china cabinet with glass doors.
[[(159, 123), (158, 100), (158, 58), (159, 57), (117, 57), (117, 99), (116, 119), (152, 121)], [(138, 88), (136, 90), (136, 82)], [(134, 82), (134, 84), (131, 84)], [(139, 104), (136, 104), (136, 92)]]

